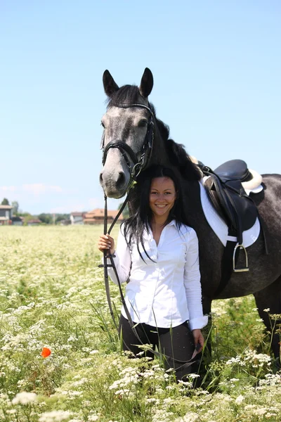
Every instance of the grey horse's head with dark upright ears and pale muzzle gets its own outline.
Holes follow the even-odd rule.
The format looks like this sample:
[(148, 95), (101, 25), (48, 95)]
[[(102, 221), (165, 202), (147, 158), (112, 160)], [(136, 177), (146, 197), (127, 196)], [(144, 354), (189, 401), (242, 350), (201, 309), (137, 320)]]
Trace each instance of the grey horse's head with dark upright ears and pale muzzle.
[(129, 187), (132, 172), (145, 165), (147, 150), (152, 148), (148, 139), (153, 136), (153, 113), (148, 102), (153, 87), (152, 72), (145, 69), (139, 87), (124, 85), (119, 88), (110, 72), (105, 70), (103, 87), (107, 111), (101, 121), (104, 132), (100, 185), (106, 196), (121, 198)]

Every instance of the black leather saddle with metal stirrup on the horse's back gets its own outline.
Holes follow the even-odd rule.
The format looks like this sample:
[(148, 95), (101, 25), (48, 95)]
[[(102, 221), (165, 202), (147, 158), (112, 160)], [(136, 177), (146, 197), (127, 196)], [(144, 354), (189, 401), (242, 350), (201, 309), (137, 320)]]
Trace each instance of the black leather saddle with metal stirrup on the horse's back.
[[(204, 176), (207, 176), (204, 186), (218, 215), (228, 225), (228, 235), (237, 238), (237, 244), (233, 245), (233, 271), (249, 271), (247, 251), (242, 245), (242, 234), (244, 230), (254, 225), (258, 210), (254, 201), (245, 192), (242, 182), (251, 180), (252, 174), (243, 160), (224, 162), (214, 171), (202, 163), (198, 165)], [(235, 267), (237, 249), (244, 250), (244, 268)]]

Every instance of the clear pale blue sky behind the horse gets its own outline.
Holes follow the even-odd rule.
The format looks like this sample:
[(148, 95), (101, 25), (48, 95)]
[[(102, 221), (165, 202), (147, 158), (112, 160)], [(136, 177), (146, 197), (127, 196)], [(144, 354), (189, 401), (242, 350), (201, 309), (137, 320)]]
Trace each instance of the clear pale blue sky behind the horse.
[(279, 0), (1, 0), (0, 200), (103, 206), (105, 69), (121, 86), (150, 68), (157, 117), (210, 167), (280, 173), (280, 21)]

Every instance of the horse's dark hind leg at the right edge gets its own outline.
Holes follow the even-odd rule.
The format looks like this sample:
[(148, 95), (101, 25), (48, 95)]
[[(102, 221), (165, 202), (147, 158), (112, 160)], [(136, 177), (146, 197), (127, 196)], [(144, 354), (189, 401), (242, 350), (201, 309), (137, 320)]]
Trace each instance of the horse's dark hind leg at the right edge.
[[(281, 324), (281, 319), (274, 321), (270, 319), (270, 314), (281, 314), (281, 276), (270, 286), (254, 293), (256, 307), (259, 310), (259, 316), (263, 319), (268, 331), (272, 332), (278, 328), (277, 324)], [(269, 312), (263, 309), (269, 309)], [(280, 359), (280, 335), (273, 333), (271, 348), (275, 358)]]

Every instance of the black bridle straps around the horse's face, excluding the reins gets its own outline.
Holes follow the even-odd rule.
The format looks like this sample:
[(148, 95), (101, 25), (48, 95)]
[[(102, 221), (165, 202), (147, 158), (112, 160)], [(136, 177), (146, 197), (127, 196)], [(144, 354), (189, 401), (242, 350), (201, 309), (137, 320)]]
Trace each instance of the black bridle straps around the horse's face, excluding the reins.
[[(145, 108), (145, 110), (148, 110), (150, 113), (150, 120), (148, 122), (148, 129), (145, 135), (145, 140), (143, 142), (143, 147), (141, 148), (141, 151), (139, 151), (139, 153), (137, 154), (132, 150), (131, 146), (129, 146), (127, 143), (121, 140), (110, 141), (109, 143), (107, 143), (107, 146), (104, 147), (105, 133), (103, 133), (103, 139), (102, 139), (102, 144), (101, 144), (101, 148), (103, 148), (103, 165), (105, 165), (108, 151), (111, 148), (117, 148), (122, 153), (122, 156), (126, 162), (126, 165), (129, 168), (131, 179), (134, 180), (138, 176), (138, 174), (141, 173), (141, 170), (145, 168), (145, 166), (148, 164), (150, 160), (150, 155), (151, 155), (152, 146), (153, 146), (153, 139), (154, 139), (153, 112), (150, 107), (145, 106), (145, 104), (141, 104), (141, 103), (112, 104), (112, 106), (119, 107), (119, 108), (141, 107), (141, 108)], [(138, 160), (138, 155), (140, 154), (141, 154), (141, 158)], [(147, 154), (147, 157), (145, 160), (146, 154)], [(129, 158), (131, 158), (131, 162), (133, 162), (133, 166), (131, 166)]]

